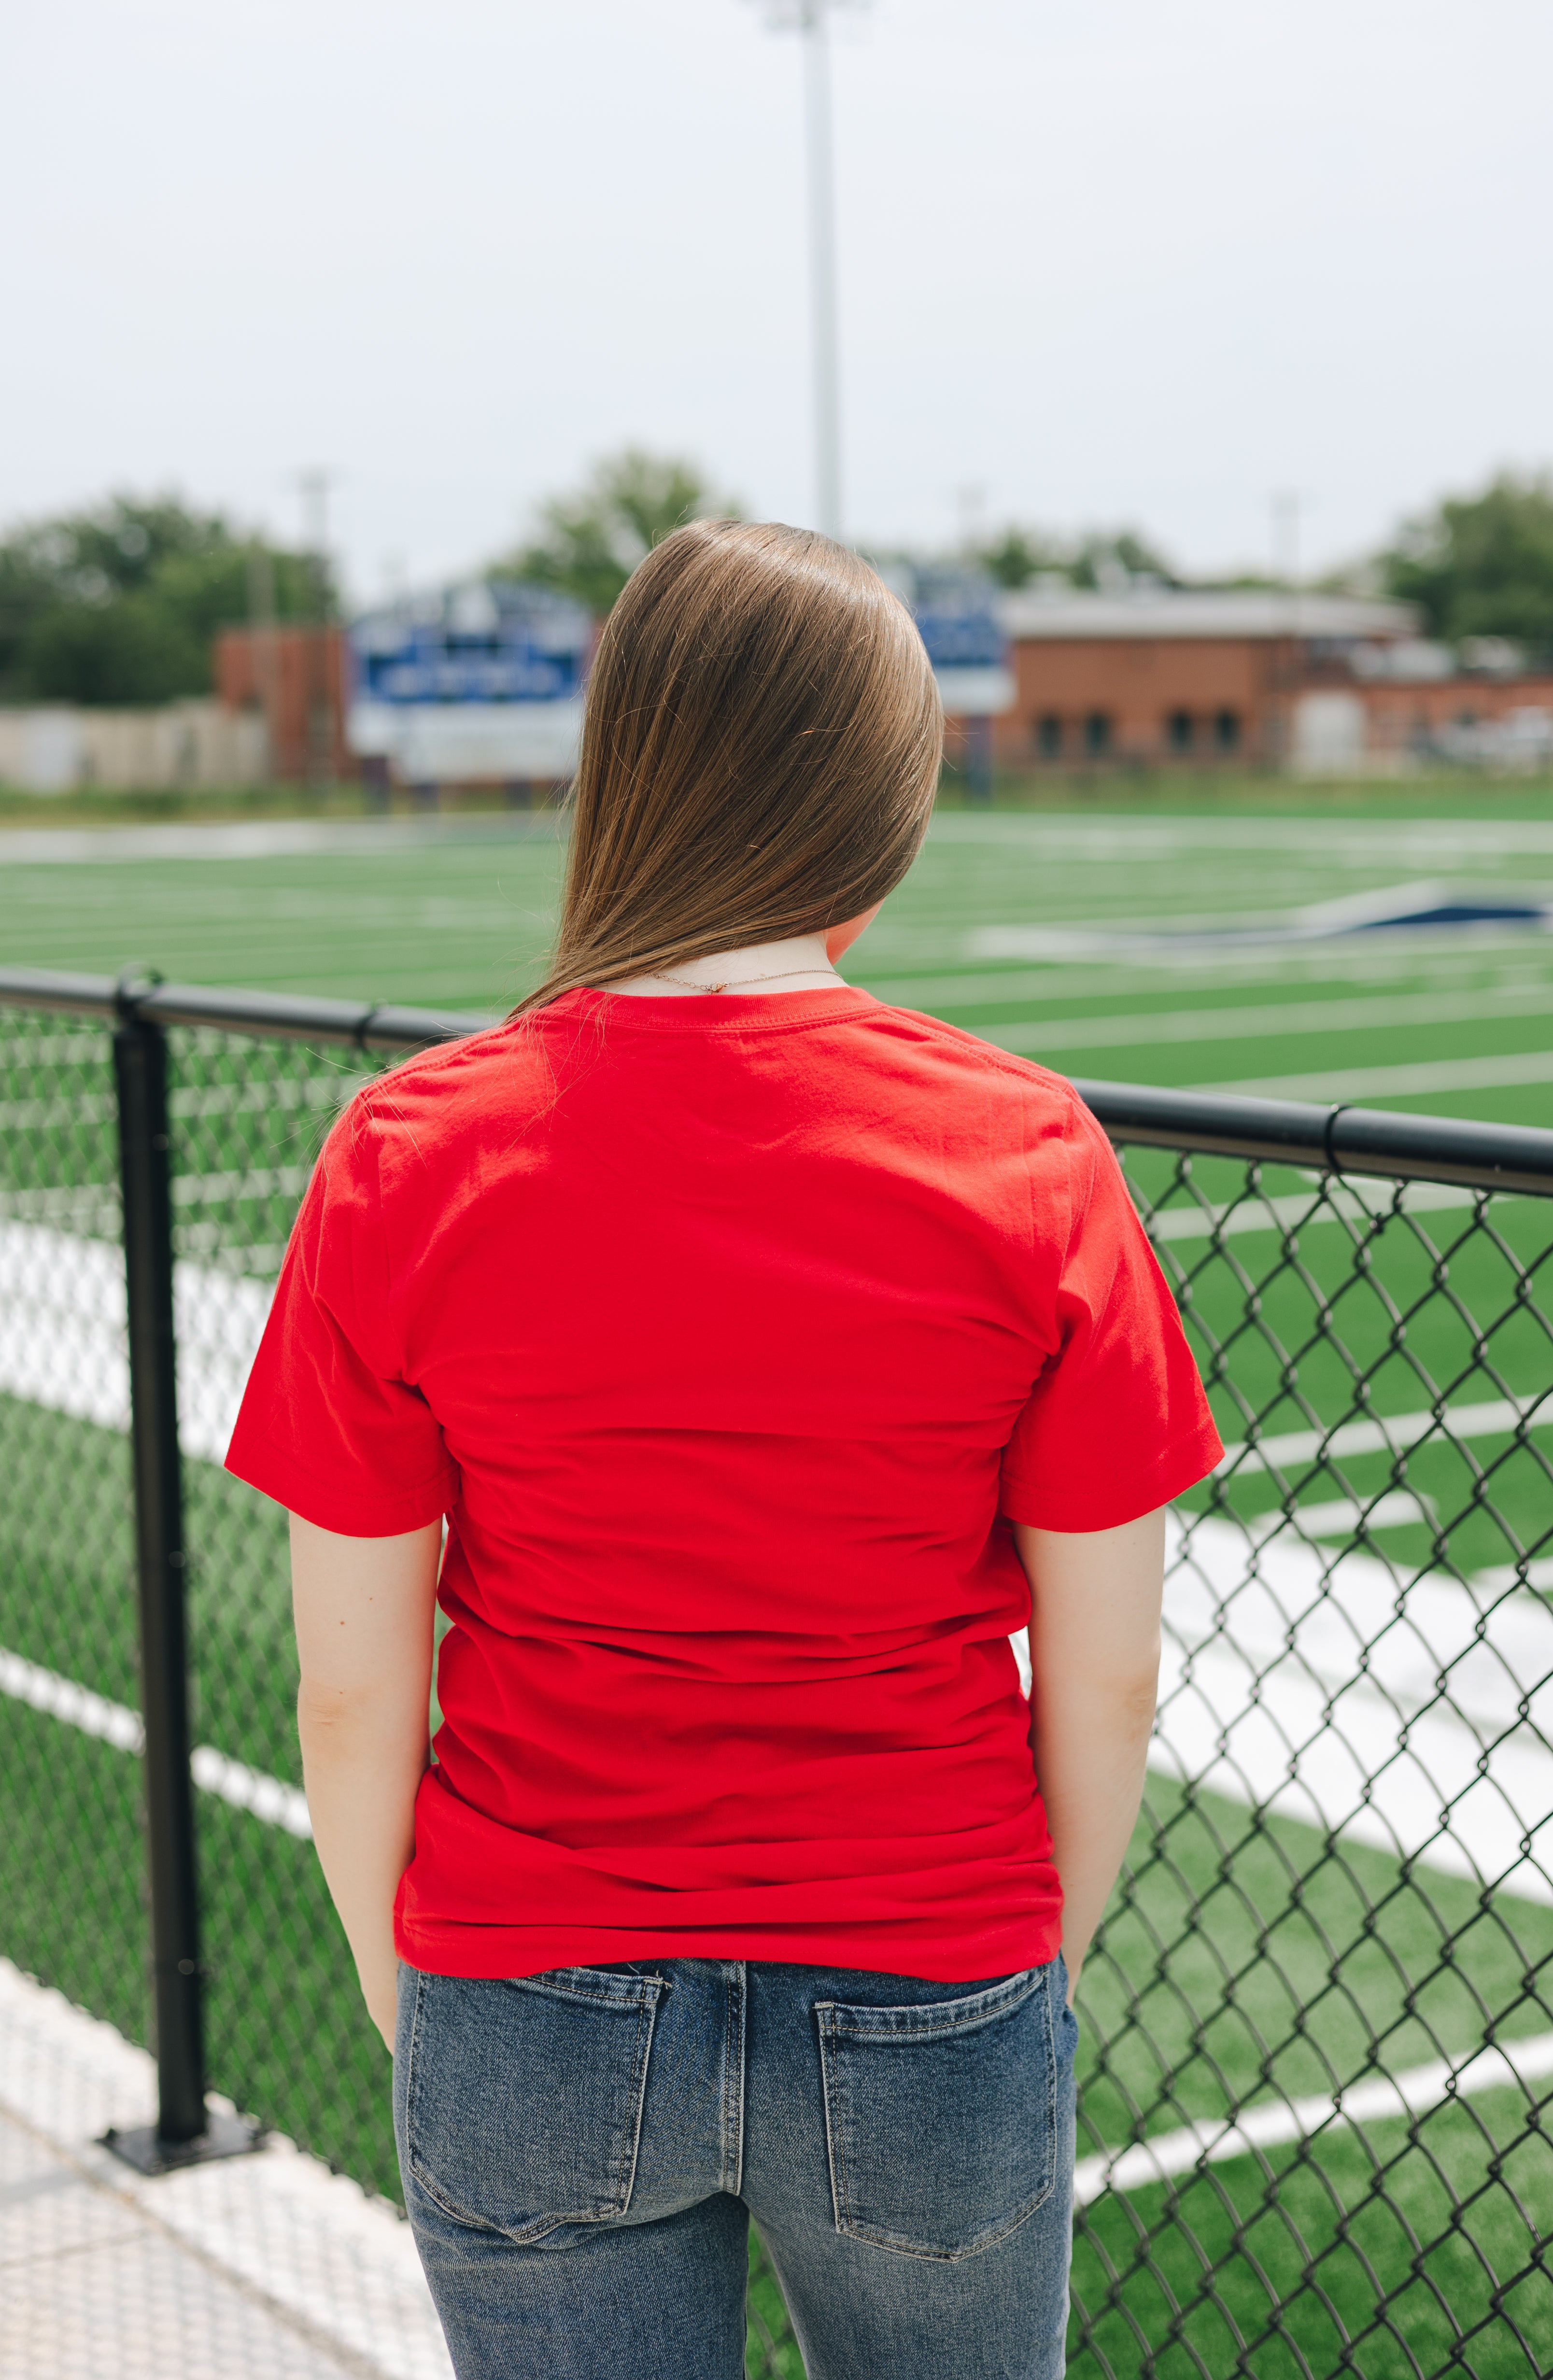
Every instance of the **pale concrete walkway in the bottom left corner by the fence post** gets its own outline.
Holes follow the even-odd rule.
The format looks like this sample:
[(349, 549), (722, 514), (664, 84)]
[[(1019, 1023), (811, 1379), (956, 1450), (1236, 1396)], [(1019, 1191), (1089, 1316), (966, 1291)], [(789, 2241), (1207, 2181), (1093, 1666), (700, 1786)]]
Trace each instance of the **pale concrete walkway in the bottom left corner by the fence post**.
[(407, 2225), (291, 2142), (145, 2180), (145, 2052), (0, 1961), (0, 2380), (453, 2380)]

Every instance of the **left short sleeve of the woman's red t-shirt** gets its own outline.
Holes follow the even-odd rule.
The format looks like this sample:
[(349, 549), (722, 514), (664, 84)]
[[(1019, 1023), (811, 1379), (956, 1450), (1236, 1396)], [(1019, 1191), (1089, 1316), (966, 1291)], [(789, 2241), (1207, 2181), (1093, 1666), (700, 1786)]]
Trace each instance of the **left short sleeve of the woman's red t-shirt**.
[(343, 1537), (395, 1537), (450, 1509), (457, 1466), (405, 1380), (376, 1130), (341, 1119), (303, 1200), (226, 1468)]

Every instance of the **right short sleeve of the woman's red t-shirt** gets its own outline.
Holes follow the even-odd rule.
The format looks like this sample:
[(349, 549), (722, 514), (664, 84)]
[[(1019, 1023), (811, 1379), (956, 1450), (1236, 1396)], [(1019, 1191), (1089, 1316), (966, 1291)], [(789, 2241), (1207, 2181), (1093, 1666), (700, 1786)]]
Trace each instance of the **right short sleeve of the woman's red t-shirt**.
[(1058, 1352), (1003, 1449), (1000, 1511), (1031, 1528), (1119, 1528), (1224, 1452), (1174, 1297), (1089, 1109), (1069, 1140)]

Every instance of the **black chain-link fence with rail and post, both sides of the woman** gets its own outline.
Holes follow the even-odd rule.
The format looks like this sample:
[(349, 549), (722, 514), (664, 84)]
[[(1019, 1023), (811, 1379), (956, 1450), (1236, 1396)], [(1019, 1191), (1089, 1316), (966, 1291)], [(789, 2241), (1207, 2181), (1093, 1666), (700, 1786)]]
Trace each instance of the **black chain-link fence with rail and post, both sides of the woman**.
[[(207, 2080), (386, 2194), (283, 1516), (219, 1459), (324, 1130), (472, 1023), (0, 976), (0, 1954), (157, 2042), (164, 2144)], [(1529, 2380), (1553, 1133), (1079, 1088), (1229, 1452), (1172, 1516), (1150, 1785), (1084, 1973), (1069, 2368)], [(748, 2361), (803, 2373), (760, 2254)]]

